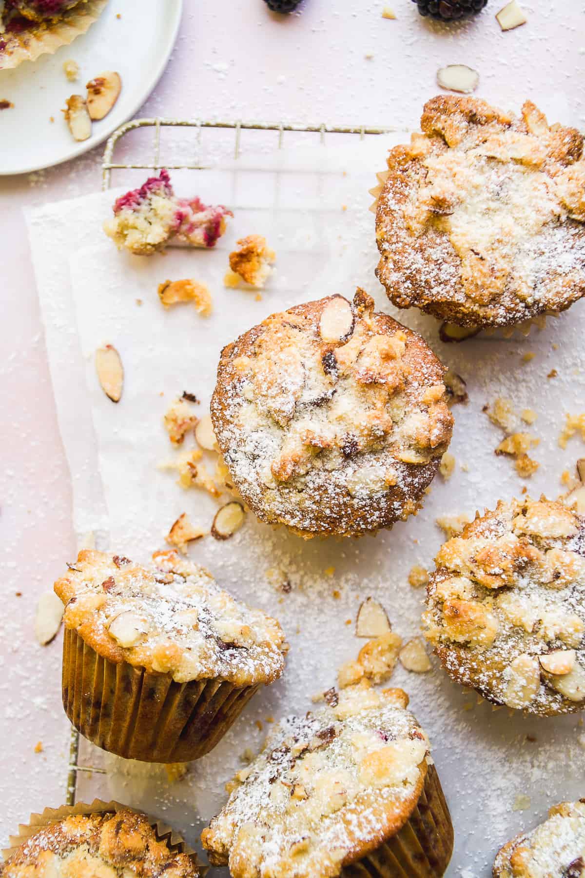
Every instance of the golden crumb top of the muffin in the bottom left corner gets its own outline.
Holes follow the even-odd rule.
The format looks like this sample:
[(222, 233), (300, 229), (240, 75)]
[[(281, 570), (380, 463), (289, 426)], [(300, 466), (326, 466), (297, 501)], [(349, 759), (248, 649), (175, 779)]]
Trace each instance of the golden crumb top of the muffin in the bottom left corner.
[(156, 837), (144, 814), (78, 814), (49, 824), (0, 865), (2, 878), (192, 878), (192, 858)]

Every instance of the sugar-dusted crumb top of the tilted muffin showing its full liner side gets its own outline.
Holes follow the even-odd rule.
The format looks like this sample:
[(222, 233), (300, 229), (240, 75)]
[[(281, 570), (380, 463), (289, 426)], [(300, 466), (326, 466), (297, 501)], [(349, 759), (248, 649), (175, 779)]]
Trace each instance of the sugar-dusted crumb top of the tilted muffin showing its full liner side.
[(288, 649), (275, 619), (234, 601), (209, 572), (155, 552), (147, 569), (120, 555), (81, 551), (54, 590), (65, 625), (104, 658), (169, 673), (176, 682), (270, 683)]

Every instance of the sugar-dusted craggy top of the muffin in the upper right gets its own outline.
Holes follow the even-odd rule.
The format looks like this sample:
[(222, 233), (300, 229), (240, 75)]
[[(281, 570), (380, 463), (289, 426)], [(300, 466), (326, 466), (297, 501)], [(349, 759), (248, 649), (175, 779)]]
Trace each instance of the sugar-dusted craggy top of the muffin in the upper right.
[(401, 308), (510, 326), (585, 293), (585, 159), (574, 128), (474, 97), (424, 104), (422, 133), (389, 153), (376, 274)]

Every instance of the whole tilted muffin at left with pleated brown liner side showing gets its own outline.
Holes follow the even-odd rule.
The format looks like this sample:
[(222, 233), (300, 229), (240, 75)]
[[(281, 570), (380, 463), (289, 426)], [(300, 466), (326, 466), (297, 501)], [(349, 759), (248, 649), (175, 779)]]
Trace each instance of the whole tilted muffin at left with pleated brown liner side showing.
[(154, 567), (81, 551), (54, 586), (65, 604), (63, 706), (103, 750), (145, 762), (210, 752), (288, 649), (280, 625), (175, 551)]

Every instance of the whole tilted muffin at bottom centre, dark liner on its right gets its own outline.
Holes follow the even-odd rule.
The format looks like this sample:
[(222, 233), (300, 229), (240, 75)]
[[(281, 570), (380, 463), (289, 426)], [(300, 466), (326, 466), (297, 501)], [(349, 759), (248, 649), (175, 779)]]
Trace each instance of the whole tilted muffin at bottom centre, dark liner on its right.
[(453, 826), (402, 689), (359, 684), (290, 716), (203, 830), (233, 878), (439, 878)]

